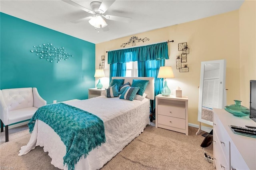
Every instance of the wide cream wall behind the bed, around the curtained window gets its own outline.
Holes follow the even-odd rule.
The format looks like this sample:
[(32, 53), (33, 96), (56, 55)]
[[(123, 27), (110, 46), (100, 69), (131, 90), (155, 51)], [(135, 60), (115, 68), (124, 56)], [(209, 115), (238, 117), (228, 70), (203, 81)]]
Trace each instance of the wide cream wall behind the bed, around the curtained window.
[[(130, 37), (123, 37), (112, 41), (96, 44), (96, 68), (100, 63), (100, 56), (106, 56), (105, 76), (109, 77), (109, 65), (107, 64), (107, 53), (115, 49), (121, 49), (120, 45), (126, 43)], [(147, 37), (150, 41), (136, 43), (136, 47), (152, 43), (159, 43), (167, 40), (174, 40), (168, 43), (169, 57), (166, 66), (172, 66), (175, 78), (168, 79), (169, 88), (176, 86), (182, 88), (182, 95), (188, 96), (188, 121), (199, 124), (198, 93), (200, 83), (200, 65), (202, 61), (226, 59), (226, 88), (228, 88), (227, 103), (233, 104), (234, 99), (240, 99), (240, 58), (239, 58), (239, 11), (228, 12), (203, 18), (196, 21), (182, 23), (170, 27), (156, 29), (136, 34), (138, 38)], [(187, 55), (189, 72), (180, 73), (176, 69), (176, 55), (178, 43), (187, 42), (190, 54)], [(128, 46), (128, 45), (127, 45)], [(131, 45), (129, 46), (131, 47)], [(104, 87), (108, 86), (108, 78), (101, 79)], [(96, 83), (98, 80), (96, 79)]]

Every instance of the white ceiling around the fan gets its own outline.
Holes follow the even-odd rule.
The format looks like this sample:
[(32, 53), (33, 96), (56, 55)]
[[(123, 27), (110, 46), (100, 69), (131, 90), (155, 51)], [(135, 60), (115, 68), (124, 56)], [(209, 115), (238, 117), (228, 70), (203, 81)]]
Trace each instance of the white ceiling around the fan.
[[(92, 1), (74, 0), (88, 9), (91, 9)], [(102, 28), (95, 30), (88, 21), (71, 23), (70, 21), (92, 14), (62, 0), (0, 0), (0, 11), (96, 44), (238, 10), (243, 2), (244, 0), (116, 0), (105, 14), (129, 17), (132, 21), (123, 23), (105, 20), (109, 31), (103, 31)]]

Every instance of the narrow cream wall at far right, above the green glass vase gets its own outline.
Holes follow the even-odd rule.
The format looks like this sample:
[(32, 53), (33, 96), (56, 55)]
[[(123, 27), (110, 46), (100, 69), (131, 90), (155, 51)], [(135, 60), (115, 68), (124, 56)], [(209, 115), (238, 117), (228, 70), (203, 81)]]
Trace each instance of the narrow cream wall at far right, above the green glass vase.
[(240, 86), (242, 105), (250, 107), (250, 80), (256, 80), (256, 1), (246, 0), (239, 9)]

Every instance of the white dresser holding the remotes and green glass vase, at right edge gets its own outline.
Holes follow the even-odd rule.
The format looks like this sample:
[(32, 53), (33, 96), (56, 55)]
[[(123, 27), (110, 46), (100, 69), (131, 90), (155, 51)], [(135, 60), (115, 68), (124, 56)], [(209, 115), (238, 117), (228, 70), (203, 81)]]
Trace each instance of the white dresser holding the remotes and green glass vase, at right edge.
[(256, 138), (233, 133), (228, 125), (256, 126), (249, 117), (213, 109), (213, 150), (216, 170), (256, 170)]

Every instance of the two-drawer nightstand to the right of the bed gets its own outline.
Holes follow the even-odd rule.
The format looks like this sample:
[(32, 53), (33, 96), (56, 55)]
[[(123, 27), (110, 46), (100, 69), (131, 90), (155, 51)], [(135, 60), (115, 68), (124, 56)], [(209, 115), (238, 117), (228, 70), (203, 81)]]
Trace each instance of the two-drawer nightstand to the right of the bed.
[(156, 127), (188, 135), (188, 97), (156, 96)]

